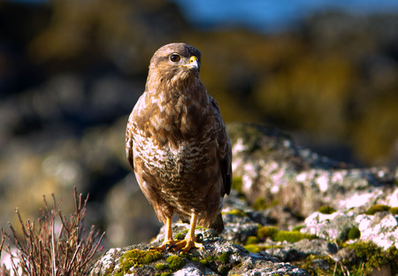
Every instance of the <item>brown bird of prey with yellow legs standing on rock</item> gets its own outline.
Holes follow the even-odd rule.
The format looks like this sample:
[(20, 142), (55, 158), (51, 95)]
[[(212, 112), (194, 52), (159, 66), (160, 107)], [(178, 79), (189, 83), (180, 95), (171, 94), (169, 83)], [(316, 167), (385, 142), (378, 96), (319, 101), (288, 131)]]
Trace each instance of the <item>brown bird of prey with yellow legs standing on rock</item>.
[[(203, 248), (196, 225), (224, 229), (220, 211), (231, 189), (231, 143), (218, 103), (199, 79), (200, 62), (201, 52), (186, 43), (157, 50), (126, 126), (126, 157), (166, 226), (159, 250)], [(174, 213), (190, 220), (183, 241), (172, 238)]]

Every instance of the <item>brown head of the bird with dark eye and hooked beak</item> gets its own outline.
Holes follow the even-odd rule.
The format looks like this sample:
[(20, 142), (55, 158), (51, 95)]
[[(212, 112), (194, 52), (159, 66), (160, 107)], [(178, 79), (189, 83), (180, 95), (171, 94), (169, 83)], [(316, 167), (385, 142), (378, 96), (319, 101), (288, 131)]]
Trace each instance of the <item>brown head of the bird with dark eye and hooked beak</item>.
[(155, 52), (150, 59), (149, 77), (155, 82), (187, 84), (199, 79), (201, 52), (186, 43), (170, 43)]

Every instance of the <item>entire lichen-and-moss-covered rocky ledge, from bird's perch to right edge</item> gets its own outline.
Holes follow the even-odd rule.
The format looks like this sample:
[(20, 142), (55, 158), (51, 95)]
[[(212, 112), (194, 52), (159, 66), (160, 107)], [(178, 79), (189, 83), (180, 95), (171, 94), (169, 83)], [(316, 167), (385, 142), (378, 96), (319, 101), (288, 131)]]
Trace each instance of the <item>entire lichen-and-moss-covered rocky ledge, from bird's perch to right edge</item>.
[[(396, 275), (397, 170), (359, 169), (295, 147), (278, 130), (231, 125), (226, 229), (198, 227), (205, 249), (110, 249), (90, 275)], [(175, 224), (176, 238), (188, 225)]]

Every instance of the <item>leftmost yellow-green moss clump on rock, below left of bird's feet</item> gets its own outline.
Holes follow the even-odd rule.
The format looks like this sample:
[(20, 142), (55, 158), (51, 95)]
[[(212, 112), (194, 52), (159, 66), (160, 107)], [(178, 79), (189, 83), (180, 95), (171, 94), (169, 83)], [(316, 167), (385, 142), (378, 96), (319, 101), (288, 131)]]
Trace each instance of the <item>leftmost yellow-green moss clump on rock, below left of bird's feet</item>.
[(162, 253), (157, 250), (139, 250), (132, 249), (127, 251), (120, 257), (120, 267), (115, 276), (121, 276), (126, 274), (131, 267), (138, 267), (144, 264), (155, 262), (162, 257)]

